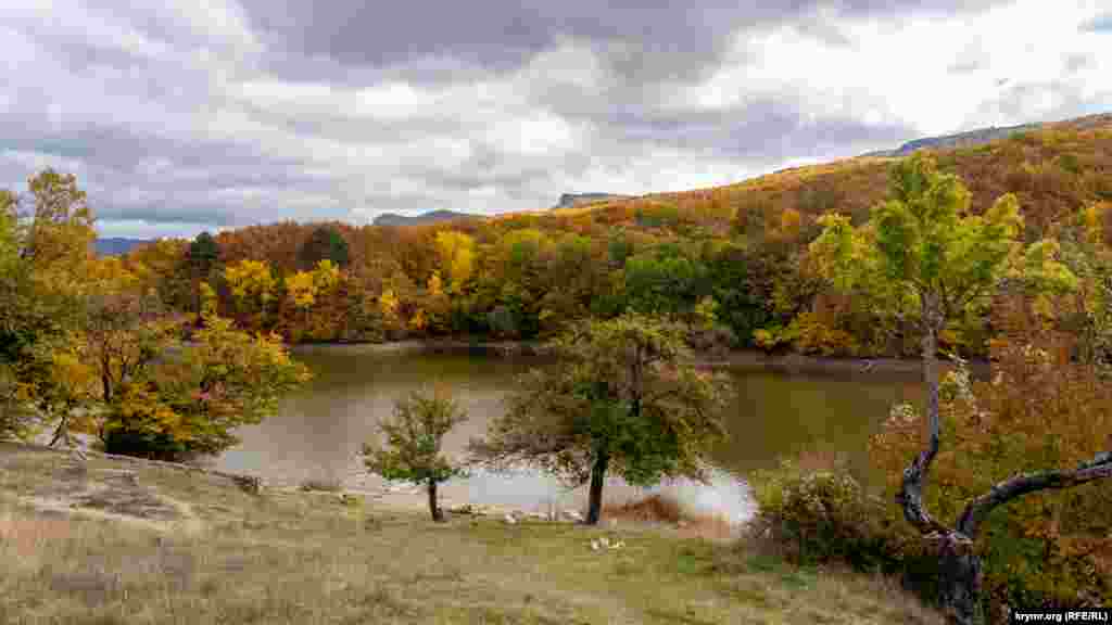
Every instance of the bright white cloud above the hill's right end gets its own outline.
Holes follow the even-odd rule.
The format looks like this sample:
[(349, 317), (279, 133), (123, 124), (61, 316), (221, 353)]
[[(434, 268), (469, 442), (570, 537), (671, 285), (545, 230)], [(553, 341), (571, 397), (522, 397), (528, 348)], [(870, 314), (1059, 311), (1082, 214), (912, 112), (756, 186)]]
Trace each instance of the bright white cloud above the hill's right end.
[[(1078, 32), (1094, 12), (1092, 2), (1056, 3), (1049, 10), (1045, 2), (1026, 0), (960, 19), (838, 24), (851, 46), (786, 24), (742, 36), (735, 62), (706, 83), (689, 87), (688, 99), (704, 108), (727, 109), (786, 95), (812, 119), (847, 116), (873, 125), (903, 122), (924, 135), (945, 133), (1053, 113), (1062, 101), (1051, 83), (1062, 78), (1065, 59), (1080, 54), (1094, 61), (1071, 78), (1079, 96), (1102, 97), (1104, 106), (1112, 107), (1106, 80), (1112, 75), (1112, 42)], [(1015, 83), (1044, 87), (1012, 107), (1015, 113), (985, 109)]]

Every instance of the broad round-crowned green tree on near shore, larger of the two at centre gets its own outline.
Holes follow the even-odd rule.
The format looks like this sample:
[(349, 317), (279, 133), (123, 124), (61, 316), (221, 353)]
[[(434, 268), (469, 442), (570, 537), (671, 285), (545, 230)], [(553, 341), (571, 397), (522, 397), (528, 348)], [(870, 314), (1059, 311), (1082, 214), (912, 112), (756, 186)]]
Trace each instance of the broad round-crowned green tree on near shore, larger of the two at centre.
[(727, 386), (692, 366), (683, 336), (634, 312), (579, 324), (552, 341), (555, 367), (522, 377), (471, 452), (495, 468), (527, 464), (589, 482), (588, 524), (598, 523), (608, 472), (642, 485), (705, 479), (708, 446), (725, 431)]

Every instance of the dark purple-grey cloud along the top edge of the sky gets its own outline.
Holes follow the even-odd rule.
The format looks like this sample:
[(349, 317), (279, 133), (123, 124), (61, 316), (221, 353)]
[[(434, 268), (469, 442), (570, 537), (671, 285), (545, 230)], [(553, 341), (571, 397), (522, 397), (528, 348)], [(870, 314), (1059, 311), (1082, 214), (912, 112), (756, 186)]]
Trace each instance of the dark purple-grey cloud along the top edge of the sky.
[[(388, 6), (336, 0), (327, 10), (299, 0), (244, 0), (248, 19), (282, 56), (270, 69), (311, 79), (398, 71), (426, 80), (458, 72), (510, 71), (565, 40), (602, 53), (619, 81), (685, 81), (714, 69), (738, 30), (797, 22), (847, 43), (831, 19), (974, 12), (1003, 0), (408, 0)], [(832, 14), (816, 16), (818, 8)], [(439, 71), (438, 71), (439, 68)], [(381, 73), (378, 73), (379, 76)], [(349, 77), (350, 79), (350, 77)]]

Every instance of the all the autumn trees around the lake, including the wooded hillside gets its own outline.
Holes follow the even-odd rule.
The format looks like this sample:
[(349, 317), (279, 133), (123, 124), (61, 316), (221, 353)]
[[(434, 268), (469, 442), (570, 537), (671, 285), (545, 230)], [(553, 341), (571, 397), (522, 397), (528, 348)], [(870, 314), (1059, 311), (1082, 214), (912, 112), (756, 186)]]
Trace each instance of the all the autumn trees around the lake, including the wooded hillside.
[[(0, 191), (0, 438), (80, 431), (108, 452), (212, 454), (309, 379), (292, 345), (546, 341), (587, 327), (600, 338), (567, 348), (579, 364), (566, 378), (523, 383), (520, 423), (503, 424), (502, 447), (487, 450), (535, 452), (536, 424), (547, 423), (529, 420), (536, 406), (558, 411), (574, 396), (584, 411), (620, 413), (629, 401), (593, 377), (627, 375), (607, 355), (636, 339), (649, 346), (638, 355), (671, 358), (637, 367), (694, 397), (686, 413), (646, 404), (659, 424), (689, 423), (653, 430), (652, 445), (622, 443), (636, 454), (623, 460), (614, 443), (612, 466), (657, 478), (695, 470), (683, 433), (718, 400), (702, 374), (673, 375), (677, 355), (922, 358), (925, 414), (897, 406), (870, 440), (884, 496), (787, 462), (752, 476), (758, 527), (797, 563), (911, 577), (959, 623), (979, 619), (982, 577), (996, 617), (1009, 602), (1112, 597), (1102, 513), (1112, 495), (1108, 479), (1096, 484), (1112, 475), (1112, 116), (536, 212), (398, 227), (285, 221), (122, 257), (93, 255), (95, 238), (96, 207), (72, 175), (47, 169), (27, 194)], [(956, 374), (940, 375), (940, 355)], [(972, 379), (967, 359), (991, 363), (992, 379)], [(641, 399), (633, 405), (641, 418)], [(454, 410), (440, 410), (440, 436), (461, 418)], [(595, 476), (593, 523), (609, 453), (578, 467)], [(396, 464), (380, 455), (369, 466), (413, 474)], [(1055, 494), (1019, 499), (1039, 490)], [(1012, 498), (1009, 515), (990, 516)], [(983, 548), (967, 549), (979, 536)]]

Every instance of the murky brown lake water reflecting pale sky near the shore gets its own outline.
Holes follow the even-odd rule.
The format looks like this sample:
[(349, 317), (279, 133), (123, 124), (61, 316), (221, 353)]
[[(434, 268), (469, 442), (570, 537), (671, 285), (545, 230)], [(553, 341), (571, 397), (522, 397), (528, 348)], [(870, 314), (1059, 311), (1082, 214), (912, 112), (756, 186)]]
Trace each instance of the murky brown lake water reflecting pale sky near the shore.
[[(275, 486), (338, 480), (350, 490), (378, 492), (385, 485), (366, 473), (359, 449), (374, 435), (377, 419), (391, 413), (395, 399), (429, 383), (447, 384), (470, 416), (444, 443), (447, 454), (461, 454), (467, 442), (481, 436), (489, 420), (502, 413), (502, 399), (513, 388), (515, 376), (544, 364), (536, 357), (391, 353), (374, 346), (309, 347), (296, 355), (312, 369), (312, 383), (285, 399), (275, 417), (241, 428), (242, 443), (212, 460), (214, 468), (258, 475)], [(921, 397), (919, 384), (906, 376), (729, 375), (737, 400), (727, 416), (728, 438), (714, 449), (718, 470), (712, 484), (678, 480), (644, 489), (615, 478), (604, 492), (608, 503), (664, 492), (692, 512), (714, 512), (743, 522), (753, 512), (744, 483), (748, 472), (773, 467), (782, 455), (806, 452), (842, 454), (862, 467), (866, 439), (888, 406)], [(585, 488), (568, 490), (536, 472), (476, 472), (443, 485), (440, 493), (449, 504), (470, 502), (535, 512), (553, 506), (582, 509), (586, 500)]]

